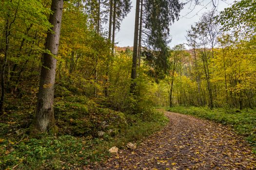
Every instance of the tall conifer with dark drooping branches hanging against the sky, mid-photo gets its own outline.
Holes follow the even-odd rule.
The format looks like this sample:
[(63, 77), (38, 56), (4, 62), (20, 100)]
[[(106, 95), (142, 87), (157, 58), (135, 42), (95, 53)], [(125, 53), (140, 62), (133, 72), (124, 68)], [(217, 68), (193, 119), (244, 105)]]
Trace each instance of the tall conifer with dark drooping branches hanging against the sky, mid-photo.
[(169, 27), (178, 20), (183, 3), (179, 0), (145, 0), (144, 8), (143, 34), (147, 46), (144, 57), (151, 67), (148, 73), (158, 82), (168, 72)]

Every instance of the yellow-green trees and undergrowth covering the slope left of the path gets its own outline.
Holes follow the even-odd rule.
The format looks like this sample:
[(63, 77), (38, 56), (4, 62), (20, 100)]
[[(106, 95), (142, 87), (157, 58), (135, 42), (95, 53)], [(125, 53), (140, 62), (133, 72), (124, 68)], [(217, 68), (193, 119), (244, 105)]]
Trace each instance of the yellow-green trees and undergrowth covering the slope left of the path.
[[(110, 56), (112, 44), (105, 33), (95, 29), (107, 2), (101, 1), (103, 8), (98, 16), (98, 9), (94, 9), (98, 1), (89, 0), (89, 7), (81, 0), (69, 0), (64, 2), (56, 56), (56, 126), (47, 134), (30, 136), (40, 58), (49, 52), (44, 50), (46, 34), (52, 27), (48, 22), (49, 2), (0, 2), (0, 30), (10, 32), (8, 71), (3, 75), (6, 97), (0, 123), (0, 169), (81, 168), (104, 158), (113, 145), (121, 148), (129, 141), (138, 142), (167, 123), (163, 114), (152, 108), (150, 90), (156, 86), (145, 74), (146, 67), (139, 68), (140, 76), (135, 80), (139, 95), (133, 96), (129, 92), (132, 51), (116, 51)], [(130, 2), (118, 1), (117, 28), (130, 11)], [(1, 65), (7, 45), (4, 39), (1, 34)], [(106, 88), (108, 96), (104, 95)]]

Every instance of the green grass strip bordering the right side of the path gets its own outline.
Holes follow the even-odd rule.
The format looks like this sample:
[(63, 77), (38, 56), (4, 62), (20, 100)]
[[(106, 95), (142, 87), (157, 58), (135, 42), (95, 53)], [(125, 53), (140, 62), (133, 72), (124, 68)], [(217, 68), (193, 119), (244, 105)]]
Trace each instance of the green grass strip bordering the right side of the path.
[(256, 110), (254, 109), (240, 111), (237, 109), (215, 108), (211, 110), (208, 107), (177, 106), (167, 108), (167, 110), (230, 125), (238, 134), (245, 136), (256, 154)]

